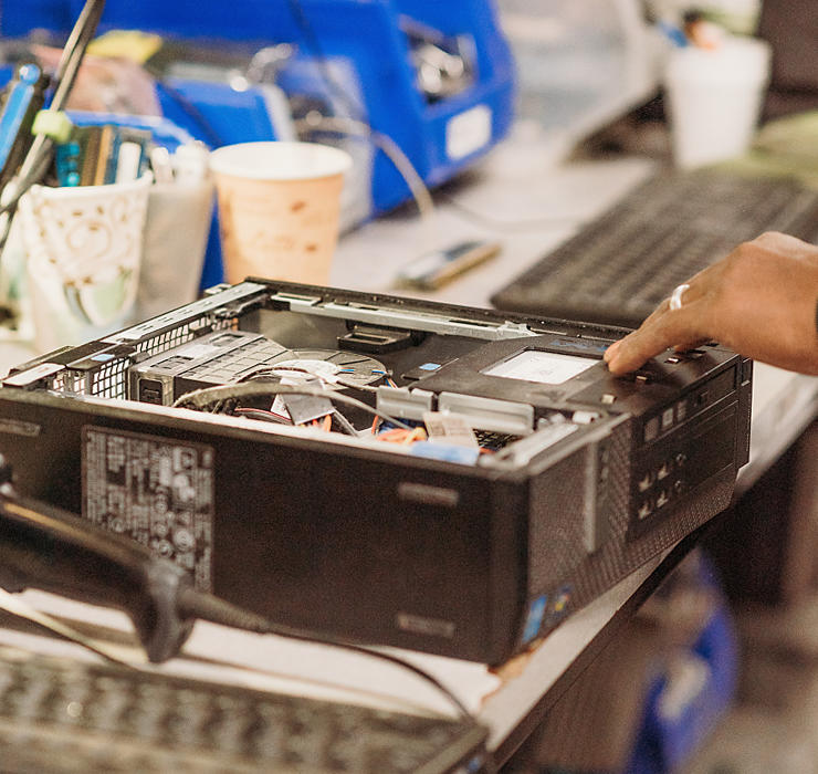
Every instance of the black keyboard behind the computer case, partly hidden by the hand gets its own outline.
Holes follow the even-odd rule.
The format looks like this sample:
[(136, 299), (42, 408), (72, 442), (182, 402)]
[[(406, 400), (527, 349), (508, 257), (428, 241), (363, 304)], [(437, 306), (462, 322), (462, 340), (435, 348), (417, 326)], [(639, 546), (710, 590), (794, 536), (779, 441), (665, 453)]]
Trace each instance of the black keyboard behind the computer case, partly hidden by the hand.
[(818, 237), (818, 191), (725, 170), (661, 172), (494, 296), (503, 310), (637, 327), (679, 283), (764, 231)]

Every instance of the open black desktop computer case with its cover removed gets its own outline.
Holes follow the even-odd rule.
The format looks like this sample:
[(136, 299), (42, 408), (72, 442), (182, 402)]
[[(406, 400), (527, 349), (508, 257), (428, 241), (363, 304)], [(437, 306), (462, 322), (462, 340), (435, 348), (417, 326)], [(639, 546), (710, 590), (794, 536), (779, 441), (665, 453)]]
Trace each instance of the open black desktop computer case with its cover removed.
[[(717, 345), (615, 379), (601, 353), (621, 328), (264, 280), (217, 290), (12, 370), (0, 453), (21, 493), (280, 624), (502, 662), (724, 510), (747, 460), (752, 364)], [(214, 331), (343, 339), (387, 365), (391, 416), (462, 410), (513, 440), (464, 462), (138, 395), (155, 385), (144, 364)], [(554, 385), (485, 375), (521, 351), (591, 365)], [(428, 360), (443, 365), (410, 379)]]

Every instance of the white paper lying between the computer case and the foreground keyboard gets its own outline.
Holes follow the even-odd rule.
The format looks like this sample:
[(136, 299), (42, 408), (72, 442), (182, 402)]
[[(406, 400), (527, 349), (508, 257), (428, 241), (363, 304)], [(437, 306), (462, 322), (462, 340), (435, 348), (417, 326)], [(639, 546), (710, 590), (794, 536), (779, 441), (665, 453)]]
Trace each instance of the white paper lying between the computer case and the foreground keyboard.
[[(116, 631), (128, 631), (130, 621), (117, 611), (84, 605), (42, 592), (24, 592), (29, 605), (52, 616)], [(60, 656), (94, 658), (78, 646), (46, 637), (0, 629), (0, 642)], [(385, 649), (386, 650), (386, 649)], [(500, 686), (482, 663), (389, 649), (436, 677), (471, 712)], [(437, 688), (409, 670), (374, 657), (283, 637), (254, 635), (199, 621), (182, 657), (153, 667), (161, 672), (243, 684), (263, 691), (308, 695), (419, 713), (453, 714), (452, 702)]]

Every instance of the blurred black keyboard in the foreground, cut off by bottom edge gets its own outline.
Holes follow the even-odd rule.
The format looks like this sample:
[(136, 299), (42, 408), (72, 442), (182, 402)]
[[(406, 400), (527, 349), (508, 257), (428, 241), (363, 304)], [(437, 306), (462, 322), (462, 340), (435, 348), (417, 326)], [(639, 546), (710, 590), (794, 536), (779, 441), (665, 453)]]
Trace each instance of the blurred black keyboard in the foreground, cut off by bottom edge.
[(0, 647), (0, 770), (476, 772), (466, 721), (226, 687)]

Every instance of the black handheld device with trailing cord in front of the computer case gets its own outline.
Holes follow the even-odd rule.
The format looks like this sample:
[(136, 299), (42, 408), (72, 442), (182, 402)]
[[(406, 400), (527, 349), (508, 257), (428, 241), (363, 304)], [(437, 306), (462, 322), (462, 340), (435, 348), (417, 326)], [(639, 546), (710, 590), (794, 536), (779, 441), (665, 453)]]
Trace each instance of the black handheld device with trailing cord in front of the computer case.
[(177, 656), (199, 619), (343, 648), (412, 672), (439, 690), (469, 725), (480, 725), (451, 690), (420, 667), (339, 637), (275, 624), (198, 592), (190, 574), (174, 562), (67, 511), (21, 496), (11, 481), (11, 466), (0, 456), (0, 585), (7, 590), (40, 588), (122, 609), (154, 662)]

